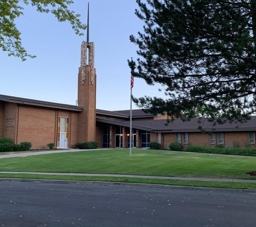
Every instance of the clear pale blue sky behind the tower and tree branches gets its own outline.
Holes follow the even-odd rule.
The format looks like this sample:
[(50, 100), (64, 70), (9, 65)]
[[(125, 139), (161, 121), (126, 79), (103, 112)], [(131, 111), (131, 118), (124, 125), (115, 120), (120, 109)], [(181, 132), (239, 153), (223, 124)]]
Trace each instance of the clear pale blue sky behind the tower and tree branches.
[[(70, 9), (81, 14), (87, 24), (88, 1), (75, 0)], [(130, 109), (130, 69), (127, 59), (137, 58), (137, 46), (129, 35), (137, 36), (143, 22), (134, 14), (135, 0), (93, 0), (90, 2), (90, 39), (95, 44), (97, 75), (96, 108)], [(0, 51), (0, 94), (75, 105), (77, 100), (80, 47), (86, 36), (75, 35), (68, 23), (59, 23), (49, 14), (25, 6), (16, 20), (23, 46), (35, 59), (22, 62)], [(86, 34), (86, 31), (84, 32)], [(135, 78), (133, 95), (161, 96), (160, 86), (148, 86)], [(137, 109), (133, 104), (133, 109)]]

